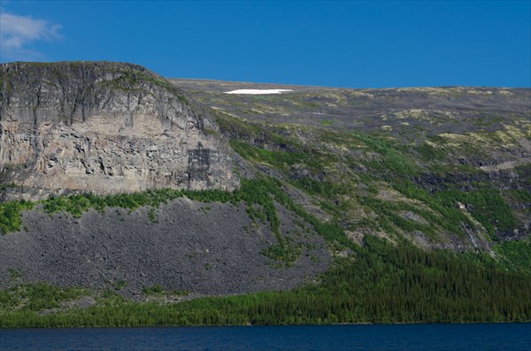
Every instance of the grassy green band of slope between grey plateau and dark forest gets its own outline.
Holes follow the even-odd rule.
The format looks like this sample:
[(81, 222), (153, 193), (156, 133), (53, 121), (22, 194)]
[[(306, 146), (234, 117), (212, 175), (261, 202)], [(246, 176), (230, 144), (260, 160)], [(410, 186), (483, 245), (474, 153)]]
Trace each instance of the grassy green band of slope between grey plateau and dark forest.
[[(420, 231), (436, 240), (444, 233), (465, 236), (463, 222), (496, 240), (497, 232), (518, 225), (508, 203), (511, 193), (501, 193), (481, 170), (453, 164), (448, 150), (429, 143), (404, 145), (378, 134), (246, 123), (222, 113), (218, 118), (234, 138), (233, 149), (251, 163), (280, 171), (347, 230), (367, 227), (391, 235)], [(427, 191), (419, 180), (425, 174), (440, 179), (442, 188)], [(455, 174), (471, 180), (459, 183), (449, 177)], [(382, 189), (396, 195), (386, 198)], [(458, 202), (467, 210), (459, 209)], [(421, 219), (404, 217), (404, 211)]]

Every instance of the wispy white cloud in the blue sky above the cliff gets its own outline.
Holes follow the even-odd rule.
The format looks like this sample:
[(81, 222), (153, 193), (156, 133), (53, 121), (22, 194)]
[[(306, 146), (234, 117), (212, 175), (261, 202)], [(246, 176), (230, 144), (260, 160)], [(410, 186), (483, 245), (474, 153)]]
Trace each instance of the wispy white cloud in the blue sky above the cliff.
[(43, 55), (32, 49), (38, 41), (56, 41), (61, 38), (58, 24), (31, 16), (0, 12), (0, 61), (33, 60)]

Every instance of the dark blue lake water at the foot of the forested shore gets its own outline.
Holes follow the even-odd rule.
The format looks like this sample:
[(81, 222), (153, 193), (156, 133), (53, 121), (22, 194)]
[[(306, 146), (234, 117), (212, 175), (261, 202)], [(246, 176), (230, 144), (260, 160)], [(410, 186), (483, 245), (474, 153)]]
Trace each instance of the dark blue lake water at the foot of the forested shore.
[(531, 324), (0, 330), (0, 350), (531, 350)]

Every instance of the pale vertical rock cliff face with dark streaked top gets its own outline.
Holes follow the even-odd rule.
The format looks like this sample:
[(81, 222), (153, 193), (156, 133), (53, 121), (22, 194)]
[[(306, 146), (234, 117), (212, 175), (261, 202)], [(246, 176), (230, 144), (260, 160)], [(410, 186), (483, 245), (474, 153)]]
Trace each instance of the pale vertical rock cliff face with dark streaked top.
[(217, 129), (207, 111), (138, 65), (0, 65), (0, 180), (33, 199), (233, 189), (239, 180)]

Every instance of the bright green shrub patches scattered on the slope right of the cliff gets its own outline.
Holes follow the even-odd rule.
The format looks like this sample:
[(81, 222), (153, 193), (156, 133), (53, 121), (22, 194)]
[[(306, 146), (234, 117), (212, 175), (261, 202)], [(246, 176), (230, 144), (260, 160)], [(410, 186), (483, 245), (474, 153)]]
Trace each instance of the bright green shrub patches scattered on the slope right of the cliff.
[[(239, 121), (239, 123), (243, 122)], [(356, 198), (358, 200), (356, 204), (361, 204), (377, 213), (378, 218), (373, 221), (374, 225), (388, 233), (397, 233), (397, 230), (420, 231), (435, 237), (436, 230), (439, 230), (464, 236), (466, 232), (462, 224), (467, 227), (475, 227), (475, 224), (463, 210), (458, 208), (458, 202), (466, 204), (468, 213), (481, 223), (491, 238), (495, 240), (497, 239), (496, 232), (510, 231), (517, 225), (517, 219), (509, 204), (498, 190), (489, 185), (477, 184), (478, 190), (464, 192), (456, 189), (454, 184), (447, 184), (446, 190), (430, 194), (414, 181), (421, 175), (421, 172), (428, 172), (428, 170), (423, 171), (419, 164), (413, 163), (414, 154), (404, 145), (378, 135), (351, 133), (341, 134), (339, 137), (335, 135), (335, 132), (323, 133), (326, 134), (328, 142), (334, 142), (336, 136), (339, 138), (337, 142), (340, 145), (362, 149), (372, 156), (355, 161), (349, 156), (339, 157), (323, 149), (312, 149), (310, 146), (297, 145), (295, 147), (294, 145), (291, 149), (298, 148), (296, 151), (261, 149), (243, 141), (231, 141), (231, 146), (247, 160), (258, 164), (268, 164), (283, 172), (290, 172), (294, 164), (303, 167), (308, 175), (292, 180), (291, 184), (309, 195), (318, 195), (321, 198), (321, 207), (332, 213), (338, 220), (342, 219), (341, 216), (344, 210), (348, 210), (349, 204), (338, 202), (337, 196), (346, 195), (349, 198)], [(422, 154), (425, 158), (443, 160), (445, 157), (442, 150), (435, 149), (428, 144), (421, 144), (413, 151)], [(345, 170), (338, 170), (335, 165), (337, 162), (349, 164), (352, 167), (364, 164), (369, 172), (352, 174)], [(331, 176), (341, 180), (332, 182), (326, 178), (317, 179), (317, 175), (324, 172), (331, 172)], [(360, 196), (353, 190), (352, 182), (356, 183), (356, 181), (352, 179), (356, 177), (366, 182), (368, 189), (373, 190), (372, 195)], [(374, 184), (381, 181), (389, 184), (406, 198), (423, 202), (431, 211), (420, 210), (419, 207), (404, 202), (377, 200), (375, 195), (378, 194), (378, 187)], [(528, 193), (526, 191), (514, 192), (513, 196), (525, 200)], [(403, 210), (418, 213), (427, 220), (429, 225), (415, 223), (401, 217), (399, 212)]]

